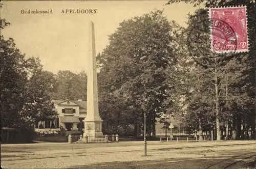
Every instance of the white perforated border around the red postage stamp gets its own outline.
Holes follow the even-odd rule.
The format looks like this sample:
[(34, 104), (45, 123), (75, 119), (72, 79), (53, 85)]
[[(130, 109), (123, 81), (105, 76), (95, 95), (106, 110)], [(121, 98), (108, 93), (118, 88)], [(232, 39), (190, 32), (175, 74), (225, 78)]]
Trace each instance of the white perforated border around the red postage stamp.
[[(208, 8), (208, 16), (209, 16), (209, 22), (211, 23), (211, 10), (212, 9), (230, 9), (230, 8), (238, 8), (238, 7), (242, 7), (242, 8), (245, 8), (245, 22), (246, 22), (246, 37), (247, 37), (247, 49), (236, 49), (236, 52), (235, 53), (242, 53), (242, 52), (248, 52), (249, 51), (249, 48), (250, 48), (250, 44), (249, 44), (249, 38), (248, 38), (248, 16), (247, 16), (247, 8), (245, 5), (236, 5), (236, 6), (226, 6), (226, 7), (214, 7), (214, 8)], [(231, 52), (230, 50), (227, 50), (227, 51), (216, 51), (214, 50), (213, 48), (213, 43), (212, 43), (212, 27), (211, 27), (211, 24), (209, 25), (209, 30), (210, 30), (210, 50), (213, 51), (213, 52), (216, 52), (216, 53), (229, 53)]]

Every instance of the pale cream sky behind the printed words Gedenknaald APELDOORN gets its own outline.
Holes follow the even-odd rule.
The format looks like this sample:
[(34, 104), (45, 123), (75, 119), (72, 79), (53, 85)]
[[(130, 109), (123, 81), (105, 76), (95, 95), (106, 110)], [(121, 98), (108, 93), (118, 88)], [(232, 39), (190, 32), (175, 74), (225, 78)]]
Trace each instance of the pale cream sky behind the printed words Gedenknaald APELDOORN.
[[(87, 70), (89, 22), (95, 26), (96, 54), (109, 43), (119, 23), (155, 9), (169, 21), (186, 26), (187, 14), (199, 7), (167, 1), (3, 1), (1, 18), (11, 23), (1, 35), (14, 39), (26, 57), (39, 57), (44, 70), (57, 73)], [(52, 10), (52, 14), (22, 14), (22, 10)], [(96, 9), (96, 14), (63, 14), (66, 9)]]

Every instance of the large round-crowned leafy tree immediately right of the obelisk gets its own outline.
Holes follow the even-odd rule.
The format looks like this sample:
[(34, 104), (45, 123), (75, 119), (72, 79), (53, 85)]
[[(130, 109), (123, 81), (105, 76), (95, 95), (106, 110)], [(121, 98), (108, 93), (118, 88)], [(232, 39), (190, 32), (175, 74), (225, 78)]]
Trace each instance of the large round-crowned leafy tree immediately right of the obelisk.
[[(101, 53), (101, 90), (117, 92), (127, 107), (145, 112), (148, 134), (155, 134), (155, 119), (165, 111), (166, 77), (177, 62), (171, 34), (176, 27), (159, 10), (125, 20)], [(134, 116), (142, 119), (143, 113)]]

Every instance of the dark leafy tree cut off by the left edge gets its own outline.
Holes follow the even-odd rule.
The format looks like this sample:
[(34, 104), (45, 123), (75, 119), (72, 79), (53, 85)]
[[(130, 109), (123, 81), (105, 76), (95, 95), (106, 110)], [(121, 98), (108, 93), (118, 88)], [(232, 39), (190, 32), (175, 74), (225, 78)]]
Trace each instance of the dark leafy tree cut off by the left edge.
[(14, 127), (26, 97), (26, 60), (16, 48), (13, 39), (0, 38), (1, 127)]

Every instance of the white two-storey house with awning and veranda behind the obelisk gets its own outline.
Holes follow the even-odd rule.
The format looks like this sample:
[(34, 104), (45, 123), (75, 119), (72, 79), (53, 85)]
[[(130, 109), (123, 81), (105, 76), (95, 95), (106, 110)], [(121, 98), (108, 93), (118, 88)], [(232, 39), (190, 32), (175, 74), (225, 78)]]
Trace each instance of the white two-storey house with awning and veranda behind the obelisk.
[(87, 115), (87, 102), (82, 100), (52, 100), (57, 116), (54, 120), (39, 121), (35, 123), (35, 131), (57, 131), (60, 127), (66, 131), (84, 129), (82, 120)]

